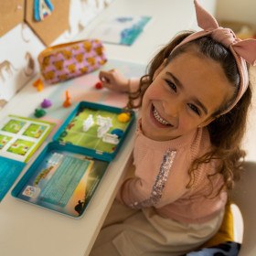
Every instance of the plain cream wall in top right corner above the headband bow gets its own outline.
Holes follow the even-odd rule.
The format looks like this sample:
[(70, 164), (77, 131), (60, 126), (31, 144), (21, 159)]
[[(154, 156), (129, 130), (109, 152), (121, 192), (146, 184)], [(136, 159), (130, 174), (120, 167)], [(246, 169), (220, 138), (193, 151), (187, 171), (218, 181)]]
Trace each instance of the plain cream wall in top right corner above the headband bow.
[(216, 17), (251, 23), (256, 28), (255, 0), (217, 0)]

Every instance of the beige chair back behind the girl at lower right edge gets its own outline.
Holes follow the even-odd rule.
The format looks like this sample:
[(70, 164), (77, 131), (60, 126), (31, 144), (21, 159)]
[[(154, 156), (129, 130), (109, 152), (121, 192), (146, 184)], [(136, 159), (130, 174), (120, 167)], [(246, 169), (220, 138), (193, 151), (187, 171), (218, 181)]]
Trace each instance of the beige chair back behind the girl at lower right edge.
[[(240, 208), (244, 233), (239, 256), (256, 255), (256, 162), (246, 162), (245, 171), (230, 192), (231, 202)], [(236, 224), (236, 223), (235, 223)], [(236, 226), (236, 225), (235, 225)]]

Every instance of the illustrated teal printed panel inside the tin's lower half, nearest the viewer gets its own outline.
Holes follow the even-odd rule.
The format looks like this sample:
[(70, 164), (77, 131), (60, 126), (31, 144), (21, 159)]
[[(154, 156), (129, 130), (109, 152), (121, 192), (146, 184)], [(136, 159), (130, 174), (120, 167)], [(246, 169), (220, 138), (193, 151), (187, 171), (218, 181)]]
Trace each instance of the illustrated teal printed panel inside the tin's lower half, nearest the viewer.
[(37, 164), (16, 197), (72, 217), (83, 213), (109, 165), (57, 148), (49, 149)]

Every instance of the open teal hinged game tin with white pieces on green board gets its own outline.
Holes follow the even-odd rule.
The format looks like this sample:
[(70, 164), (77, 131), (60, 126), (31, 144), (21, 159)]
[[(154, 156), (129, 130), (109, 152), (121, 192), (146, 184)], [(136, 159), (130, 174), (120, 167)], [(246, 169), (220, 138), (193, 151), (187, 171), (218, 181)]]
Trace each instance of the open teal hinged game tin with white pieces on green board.
[(12, 196), (81, 217), (134, 119), (133, 111), (81, 101), (16, 184)]

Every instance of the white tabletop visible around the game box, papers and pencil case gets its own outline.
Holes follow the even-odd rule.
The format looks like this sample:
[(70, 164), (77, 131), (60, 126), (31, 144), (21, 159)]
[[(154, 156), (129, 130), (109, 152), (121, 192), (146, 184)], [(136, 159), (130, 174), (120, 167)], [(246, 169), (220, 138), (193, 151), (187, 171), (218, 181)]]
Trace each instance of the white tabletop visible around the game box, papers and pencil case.
[[(187, 2), (187, 0), (115, 0), (76, 39), (90, 37), (93, 26), (109, 16), (116, 14), (153, 16), (151, 24), (132, 47), (105, 45), (110, 59), (147, 63), (177, 31), (195, 27), (193, 4), (189, 1), (189, 6), (184, 8)], [(48, 86), (44, 91), (37, 93), (31, 84), (32, 82), (28, 83), (0, 111), (1, 119), (10, 113), (28, 116), (37, 107), (38, 102), (43, 101), (55, 90), (54, 87)], [(71, 219), (50, 210), (37, 208), (12, 197), (9, 191), (0, 203), (0, 255), (89, 255), (130, 159), (133, 149), (133, 129), (125, 139), (121, 152), (113, 159), (81, 219)], [(251, 145), (248, 145), (248, 148), (251, 148)], [(33, 157), (37, 157), (37, 154), (38, 152)], [(19, 178), (26, 172), (33, 157)]]

